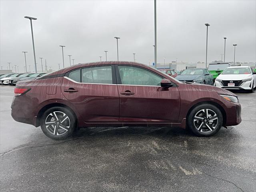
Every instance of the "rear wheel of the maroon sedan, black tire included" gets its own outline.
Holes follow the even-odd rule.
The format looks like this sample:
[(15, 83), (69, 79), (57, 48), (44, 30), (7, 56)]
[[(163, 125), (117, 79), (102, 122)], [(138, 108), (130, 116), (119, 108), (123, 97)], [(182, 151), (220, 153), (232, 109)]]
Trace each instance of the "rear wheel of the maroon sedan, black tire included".
[(63, 140), (74, 132), (76, 128), (76, 118), (67, 108), (52, 107), (46, 110), (42, 115), (40, 126), (44, 134), (49, 138)]

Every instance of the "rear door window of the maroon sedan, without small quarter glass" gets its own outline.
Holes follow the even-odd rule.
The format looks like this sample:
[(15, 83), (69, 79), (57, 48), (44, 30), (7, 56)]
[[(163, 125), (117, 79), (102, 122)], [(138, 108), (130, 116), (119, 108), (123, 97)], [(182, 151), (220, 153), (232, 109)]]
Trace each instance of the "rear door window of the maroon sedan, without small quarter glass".
[(112, 84), (112, 67), (98, 66), (83, 68), (82, 83)]

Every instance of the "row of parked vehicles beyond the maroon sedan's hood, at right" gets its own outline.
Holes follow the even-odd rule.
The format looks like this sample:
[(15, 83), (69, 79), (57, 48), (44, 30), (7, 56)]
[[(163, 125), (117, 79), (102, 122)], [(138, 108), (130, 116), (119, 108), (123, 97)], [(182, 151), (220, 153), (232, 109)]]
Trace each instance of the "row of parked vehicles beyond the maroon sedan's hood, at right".
[(227, 63), (210, 63), (206, 68), (191, 68), (184, 71), (162, 70), (180, 81), (209, 84), (228, 90), (256, 88), (256, 70), (249, 66), (232, 66)]

